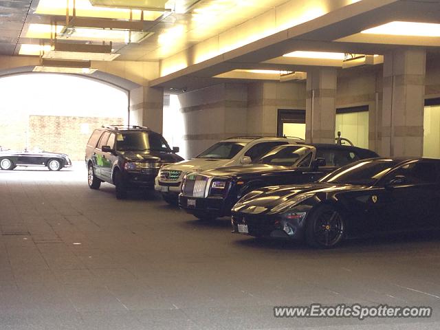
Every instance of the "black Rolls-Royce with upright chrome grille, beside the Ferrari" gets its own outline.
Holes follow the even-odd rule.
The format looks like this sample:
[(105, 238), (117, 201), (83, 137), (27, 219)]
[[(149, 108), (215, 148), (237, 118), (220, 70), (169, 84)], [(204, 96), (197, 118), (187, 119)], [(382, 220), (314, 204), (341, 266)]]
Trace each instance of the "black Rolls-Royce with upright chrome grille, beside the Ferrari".
[(234, 203), (254, 189), (317, 181), (340, 166), (371, 157), (378, 156), (373, 151), (355, 146), (277, 146), (252, 164), (186, 175), (179, 206), (199, 219), (228, 216)]

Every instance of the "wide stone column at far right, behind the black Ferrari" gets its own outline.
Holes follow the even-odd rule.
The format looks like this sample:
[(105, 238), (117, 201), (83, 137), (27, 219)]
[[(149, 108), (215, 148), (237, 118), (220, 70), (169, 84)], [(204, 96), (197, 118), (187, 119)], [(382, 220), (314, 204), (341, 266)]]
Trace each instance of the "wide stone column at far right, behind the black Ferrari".
[(384, 56), (382, 148), (386, 157), (423, 154), (425, 50), (394, 50)]

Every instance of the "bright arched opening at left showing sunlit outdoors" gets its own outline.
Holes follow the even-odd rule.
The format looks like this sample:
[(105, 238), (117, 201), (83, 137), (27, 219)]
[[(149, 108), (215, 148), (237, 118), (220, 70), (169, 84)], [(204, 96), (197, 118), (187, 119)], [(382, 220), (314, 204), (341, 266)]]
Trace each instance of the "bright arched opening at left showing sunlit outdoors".
[(129, 91), (67, 74), (0, 78), (0, 146), (43, 149), (84, 159), (91, 131), (129, 122)]

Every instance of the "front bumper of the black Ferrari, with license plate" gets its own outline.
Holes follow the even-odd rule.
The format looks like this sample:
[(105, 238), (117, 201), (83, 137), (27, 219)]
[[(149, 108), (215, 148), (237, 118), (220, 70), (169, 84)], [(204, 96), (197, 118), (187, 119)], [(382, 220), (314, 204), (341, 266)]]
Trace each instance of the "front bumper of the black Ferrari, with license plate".
[(248, 214), (233, 212), (232, 232), (270, 239), (301, 241), (305, 234), (305, 216), (285, 219), (280, 214)]

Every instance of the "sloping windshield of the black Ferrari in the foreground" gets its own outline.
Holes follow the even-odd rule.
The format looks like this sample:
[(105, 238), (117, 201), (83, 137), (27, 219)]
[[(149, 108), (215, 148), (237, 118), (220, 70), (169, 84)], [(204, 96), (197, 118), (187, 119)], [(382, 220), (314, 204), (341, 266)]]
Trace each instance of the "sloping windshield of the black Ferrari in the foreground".
[(391, 159), (360, 160), (326, 175), (320, 182), (371, 186), (386, 175), (397, 162)]

